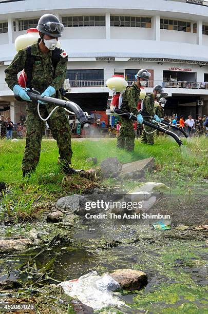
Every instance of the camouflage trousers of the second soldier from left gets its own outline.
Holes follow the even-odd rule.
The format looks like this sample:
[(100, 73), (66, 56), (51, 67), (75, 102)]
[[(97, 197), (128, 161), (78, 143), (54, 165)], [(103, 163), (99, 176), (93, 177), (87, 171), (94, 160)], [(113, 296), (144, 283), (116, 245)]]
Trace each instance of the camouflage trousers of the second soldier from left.
[(121, 118), (121, 127), (117, 138), (116, 147), (124, 148), (127, 151), (133, 151), (135, 147), (135, 131), (133, 121)]

